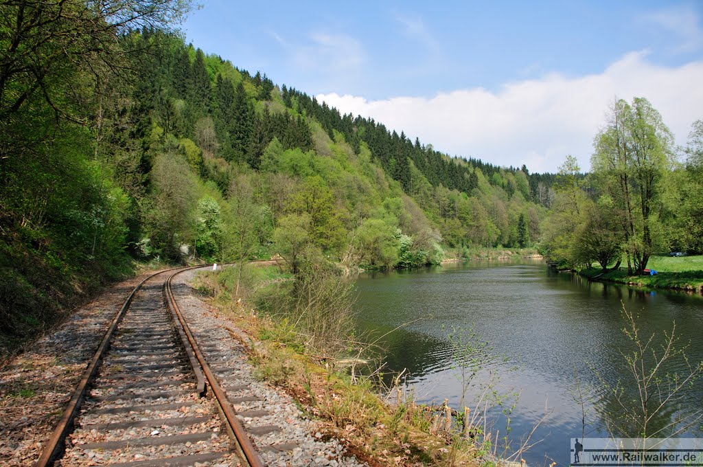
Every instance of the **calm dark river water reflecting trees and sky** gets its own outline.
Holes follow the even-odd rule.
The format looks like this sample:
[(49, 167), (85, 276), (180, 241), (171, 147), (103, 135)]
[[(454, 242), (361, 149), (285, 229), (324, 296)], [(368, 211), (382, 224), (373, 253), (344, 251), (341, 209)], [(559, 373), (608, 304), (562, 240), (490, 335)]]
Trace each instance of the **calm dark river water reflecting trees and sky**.
[[(356, 284), (360, 331), (382, 335), (410, 323), (380, 343), (387, 349), (390, 370), (407, 369), (408, 388), (420, 402), (447, 398), (453, 407), (460, 404), (462, 385), (452, 369), (447, 338), (452, 328), (473, 327), (494, 354), (507, 357), (507, 362), (490, 365), (479, 380), (498, 376), (498, 390), (520, 391), (511, 417), (513, 444), (546, 416), (531, 437), (540, 442), (524, 456), (532, 465), (568, 462), (569, 438), (580, 437), (583, 428), (581, 404), (574, 401), (576, 380), (593, 401), (586, 404), (586, 437), (605, 435), (604, 418), (593, 407), (614, 407), (614, 400), (591, 367), (610, 382), (626, 376), (620, 354), (628, 349), (621, 302), (639, 314), (643, 335), (671, 331), (676, 321), (681, 340), (690, 341), (690, 361), (703, 360), (701, 297), (591, 283), (550, 271), (537, 260), (363, 274)], [(702, 401), (703, 390), (694, 388), (685, 393), (680, 408), (699, 409)], [(504, 420), (494, 419), (494, 429), (504, 433)]]

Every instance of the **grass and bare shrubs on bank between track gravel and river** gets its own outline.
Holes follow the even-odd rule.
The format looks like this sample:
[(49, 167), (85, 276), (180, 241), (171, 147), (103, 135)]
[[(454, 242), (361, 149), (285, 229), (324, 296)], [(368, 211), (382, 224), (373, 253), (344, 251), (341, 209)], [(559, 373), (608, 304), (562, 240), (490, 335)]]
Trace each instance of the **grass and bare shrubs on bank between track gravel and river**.
[[(226, 267), (198, 274), (193, 286), (232, 323), (257, 376), (294, 397), (323, 423), (323, 435), (343, 440), (359, 459), (372, 466), (520, 465), (520, 449), (494, 439), (503, 430), (493, 430), (482, 405), (417, 404), (402, 373), (384, 374), (378, 336), (355, 335), (349, 326), (348, 283), (329, 264), (308, 267), (299, 276), (271, 264)], [(335, 309), (342, 312), (334, 316)]]

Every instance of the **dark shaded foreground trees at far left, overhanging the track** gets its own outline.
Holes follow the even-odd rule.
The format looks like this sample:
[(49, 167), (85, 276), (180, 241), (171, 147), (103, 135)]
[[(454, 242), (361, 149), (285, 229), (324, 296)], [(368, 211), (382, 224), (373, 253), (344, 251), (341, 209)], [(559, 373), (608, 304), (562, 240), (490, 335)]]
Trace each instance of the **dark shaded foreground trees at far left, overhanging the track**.
[(2, 347), (128, 271), (149, 162), (141, 135), (126, 137), (129, 62), (140, 46), (124, 33), (170, 30), (188, 9), (186, 1), (0, 6)]

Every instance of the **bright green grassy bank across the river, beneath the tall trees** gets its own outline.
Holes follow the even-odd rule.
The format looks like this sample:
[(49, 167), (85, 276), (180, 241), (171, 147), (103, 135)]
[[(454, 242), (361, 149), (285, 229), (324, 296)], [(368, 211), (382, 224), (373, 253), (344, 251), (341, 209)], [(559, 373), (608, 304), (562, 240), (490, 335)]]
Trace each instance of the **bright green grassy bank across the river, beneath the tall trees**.
[(657, 271), (657, 274), (654, 276), (628, 276), (627, 269), (623, 268), (606, 274), (601, 274), (600, 268), (589, 268), (582, 269), (579, 274), (589, 279), (622, 283), (628, 286), (690, 290), (703, 294), (703, 255), (652, 256), (647, 267)]

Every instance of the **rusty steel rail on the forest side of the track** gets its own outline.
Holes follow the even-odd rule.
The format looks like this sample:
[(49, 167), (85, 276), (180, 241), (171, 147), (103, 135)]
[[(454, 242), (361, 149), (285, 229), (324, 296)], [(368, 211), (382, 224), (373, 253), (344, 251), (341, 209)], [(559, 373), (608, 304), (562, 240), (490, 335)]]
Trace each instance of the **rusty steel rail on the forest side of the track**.
[(105, 336), (103, 337), (103, 340), (98, 346), (98, 350), (93, 355), (91, 362), (88, 364), (86, 371), (84, 371), (76, 390), (73, 392), (73, 395), (69, 400), (65, 411), (63, 412), (61, 420), (58, 422), (58, 425), (53, 430), (49, 441), (46, 443), (46, 447), (44, 447), (44, 451), (41, 452), (41, 456), (39, 456), (39, 459), (37, 460), (37, 463), (34, 464), (34, 466), (52, 466), (53, 462), (56, 461), (58, 456), (63, 451), (65, 438), (67, 435), (69, 435), (69, 433), (71, 433), (72, 429), (74, 428), (73, 419), (77, 416), (81, 404), (85, 399), (85, 394), (86, 390), (88, 389), (88, 385), (91, 380), (93, 380), (96, 371), (98, 371), (98, 366), (100, 366), (100, 362), (103, 359), (103, 355), (110, 349), (110, 340), (112, 339), (112, 334), (115, 333), (117, 326), (120, 325), (122, 317), (124, 317), (125, 312), (127, 312), (129, 305), (131, 305), (131, 302), (134, 299), (134, 295), (136, 295), (141, 286), (143, 286), (144, 283), (149, 279), (152, 279), (153, 277), (159, 274), (163, 274), (168, 271), (173, 271), (174, 269), (179, 268), (164, 269), (163, 271), (158, 271), (146, 277), (145, 279), (143, 279), (143, 281), (138, 283), (134, 290), (131, 291), (131, 293), (127, 296), (127, 300), (124, 300), (122, 308), (120, 308), (120, 311), (117, 312), (117, 314), (115, 314), (115, 317), (112, 319), (112, 324), (110, 324), (108, 331), (105, 332)]

